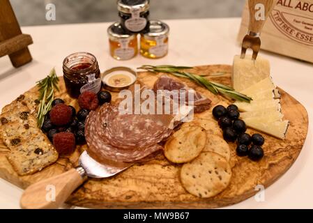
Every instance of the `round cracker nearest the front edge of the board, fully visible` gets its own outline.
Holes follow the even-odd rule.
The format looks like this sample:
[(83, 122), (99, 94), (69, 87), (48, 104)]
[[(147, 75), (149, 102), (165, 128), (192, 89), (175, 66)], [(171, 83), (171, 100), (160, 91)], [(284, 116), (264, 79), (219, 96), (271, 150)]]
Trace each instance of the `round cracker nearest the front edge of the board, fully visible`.
[(181, 183), (185, 190), (197, 197), (208, 198), (219, 194), (229, 185), (231, 167), (217, 153), (201, 153), (181, 168)]

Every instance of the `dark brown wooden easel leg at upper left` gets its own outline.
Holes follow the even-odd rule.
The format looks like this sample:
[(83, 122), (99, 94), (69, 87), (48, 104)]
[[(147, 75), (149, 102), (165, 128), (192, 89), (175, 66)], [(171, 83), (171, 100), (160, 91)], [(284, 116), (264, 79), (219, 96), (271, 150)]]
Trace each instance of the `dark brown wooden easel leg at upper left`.
[(0, 0), (0, 57), (8, 55), (15, 68), (31, 61), (28, 45), (31, 36), (22, 34), (13, 8), (8, 0)]

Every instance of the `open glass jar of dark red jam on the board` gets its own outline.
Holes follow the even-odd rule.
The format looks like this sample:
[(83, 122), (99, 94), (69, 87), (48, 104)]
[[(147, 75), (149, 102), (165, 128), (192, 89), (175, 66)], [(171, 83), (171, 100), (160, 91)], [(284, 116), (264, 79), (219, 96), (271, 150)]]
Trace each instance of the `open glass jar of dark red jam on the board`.
[(63, 78), (66, 90), (72, 98), (78, 98), (84, 91), (98, 93), (101, 79), (98, 61), (93, 54), (77, 52), (63, 61)]

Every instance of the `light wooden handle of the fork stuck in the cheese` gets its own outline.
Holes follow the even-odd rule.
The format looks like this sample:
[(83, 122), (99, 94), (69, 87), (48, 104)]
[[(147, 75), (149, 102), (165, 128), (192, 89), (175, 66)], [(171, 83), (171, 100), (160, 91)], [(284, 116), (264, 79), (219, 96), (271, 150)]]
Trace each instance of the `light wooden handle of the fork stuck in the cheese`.
[[(260, 9), (257, 4), (263, 4), (264, 7)], [(261, 33), (268, 16), (276, 4), (277, 0), (248, 0), (248, 8), (250, 13), (249, 31), (254, 33)], [(263, 9), (264, 12), (261, 12), (260, 10)], [(262, 14), (264, 15), (264, 18), (262, 18), (263, 20), (259, 20), (259, 15)]]

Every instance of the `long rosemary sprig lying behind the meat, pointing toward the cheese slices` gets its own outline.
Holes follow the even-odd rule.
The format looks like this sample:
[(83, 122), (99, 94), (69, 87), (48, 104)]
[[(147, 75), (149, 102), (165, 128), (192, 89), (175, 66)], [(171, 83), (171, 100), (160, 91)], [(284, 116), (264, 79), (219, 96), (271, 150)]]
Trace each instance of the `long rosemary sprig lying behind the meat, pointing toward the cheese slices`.
[(250, 103), (250, 101), (252, 100), (252, 98), (235, 91), (230, 86), (226, 86), (224, 84), (219, 84), (216, 82), (211, 82), (208, 79), (204, 78), (204, 76), (202, 75), (195, 75), (191, 72), (184, 71), (184, 70), (192, 69), (192, 67), (171, 66), (171, 65), (162, 65), (162, 66), (144, 65), (138, 69), (146, 70), (150, 72), (165, 72), (170, 75), (174, 75), (176, 77), (184, 77), (184, 78), (191, 79), (193, 82), (196, 82), (200, 86), (203, 86), (204, 88), (208, 89), (208, 91), (211, 91), (215, 95), (220, 94), (227, 98), (232, 98), (234, 100), (239, 100), (239, 101), (248, 102), (248, 103)]

